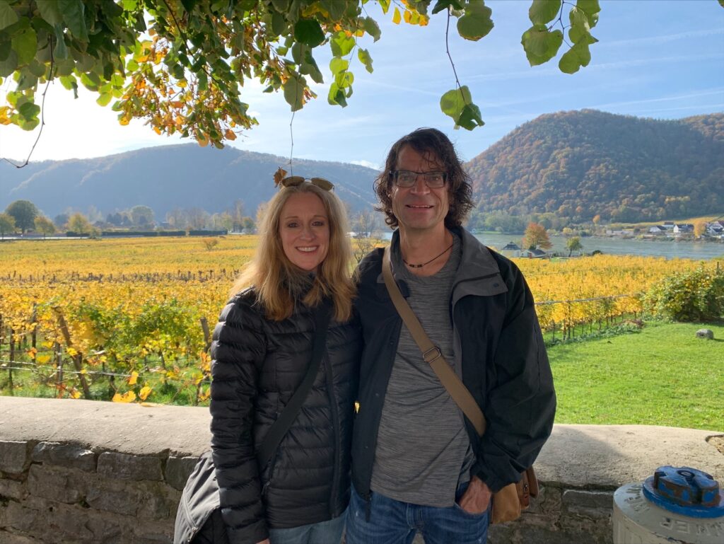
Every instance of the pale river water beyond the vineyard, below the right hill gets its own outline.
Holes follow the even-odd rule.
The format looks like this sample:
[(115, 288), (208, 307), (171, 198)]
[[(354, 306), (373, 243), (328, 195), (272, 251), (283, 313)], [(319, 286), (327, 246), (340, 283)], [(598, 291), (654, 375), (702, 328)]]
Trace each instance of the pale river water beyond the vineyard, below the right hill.
[[(392, 236), (387, 233), (384, 238)], [(476, 238), (486, 246), (500, 250), (508, 242), (521, 245), (522, 234), (481, 233)], [(565, 236), (551, 236), (552, 251), (568, 255)], [(581, 238), (586, 254), (599, 250), (608, 255), (641, 255), (665, 257), (666, 259), (715, 259), (724, 257), (724, 243), (700, 242), (693, 240), (634, 240), (625, 238), (607, 238), (602, 236), (586, 236)]]

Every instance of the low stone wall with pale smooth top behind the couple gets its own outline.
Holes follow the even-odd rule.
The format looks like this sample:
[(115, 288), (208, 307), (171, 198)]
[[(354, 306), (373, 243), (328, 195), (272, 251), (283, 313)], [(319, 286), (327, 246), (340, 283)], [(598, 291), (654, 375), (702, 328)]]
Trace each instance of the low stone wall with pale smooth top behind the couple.
[[(539, 498), (489, 542), (612, 542), (613, 492), (657, 466), (724, 483), (722, 432), (556, 425)], [(204, 408), (0, 397), (0, 544), (166, 544), (181, 490), (208, 449)], [(423, 540), (418, 537), (416, 543)]]

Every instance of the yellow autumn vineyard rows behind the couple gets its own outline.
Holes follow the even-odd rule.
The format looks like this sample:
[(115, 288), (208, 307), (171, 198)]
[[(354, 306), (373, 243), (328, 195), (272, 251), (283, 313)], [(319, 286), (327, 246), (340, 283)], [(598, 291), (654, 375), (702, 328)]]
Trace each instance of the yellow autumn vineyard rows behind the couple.
[[(255, 247), (254, 236), (0, 243), (0, 394), (205, 403), (210, 335)], [(702, 266), (607, 255), (517, 263), (558, 338), (636, 317), (652, 283)]]

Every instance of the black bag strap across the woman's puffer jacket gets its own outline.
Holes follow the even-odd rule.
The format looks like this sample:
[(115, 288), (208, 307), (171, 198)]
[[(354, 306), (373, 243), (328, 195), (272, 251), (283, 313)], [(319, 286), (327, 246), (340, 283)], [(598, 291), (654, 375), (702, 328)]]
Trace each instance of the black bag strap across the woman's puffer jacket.
[(317, 372), (319, 372), (319, 364), (324, 355), (324, 347), (327, 343), (327, 329), (329, 328), (329, 320), (332, 318), (332, 310), (327, 303), (322, 303), (314, 309), (314, 343), (312, 347), (312, 357), (309, 362), (307, 373), (300, 383), (297, 390), (290, 398), (289, 403), (282, 413), (279, 414), (277, 421), (271, 425), (271, 429), (266, 433), (266, 437), (256, 452), (259, 466), (266, 466), (271, 460), (271, 456), (277, 451), (279, 443), (287, 434), (292, 426), (292, 422), (296, 419), (302, 404), (306, 401), (309, 391), (312, 388)]

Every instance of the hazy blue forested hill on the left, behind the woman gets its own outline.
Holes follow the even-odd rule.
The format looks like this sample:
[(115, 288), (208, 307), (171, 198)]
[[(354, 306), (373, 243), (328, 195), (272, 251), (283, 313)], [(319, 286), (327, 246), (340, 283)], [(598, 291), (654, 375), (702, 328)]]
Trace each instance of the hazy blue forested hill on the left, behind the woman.
[[(151, 206), (163, 221), (174, 208), (222, 212), (244, 202), (253, 216), (256, 206), (277, 189), (272, 176), (289, 157), (200, 147), (196, 143), (159, 146), (96, 159), (31, 162), (17, 170), (0, 162), (0, 210), (21, 198), (32, 201), (49, 217), (68, 208), (102, 214)], [(285, 166), (286, 165), (286, 166)], [(326, 177), (352, 211), (371, 209), (376, 201), (372, 182), (378, 172), (340, 162), (295, 159), (294, 174)]]

